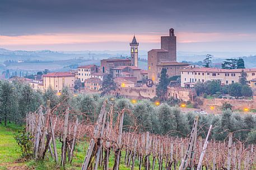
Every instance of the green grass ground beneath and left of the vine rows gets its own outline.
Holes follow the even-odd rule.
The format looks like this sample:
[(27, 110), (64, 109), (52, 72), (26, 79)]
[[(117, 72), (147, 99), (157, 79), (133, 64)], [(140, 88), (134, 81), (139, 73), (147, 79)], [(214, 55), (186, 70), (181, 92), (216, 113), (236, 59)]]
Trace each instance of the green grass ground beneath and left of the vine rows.
[[(72, 164), (66, 164), (66, 167), (59, 167), (55, 164), (54, 160), (49, 156), (45, 158), (45, 161), (35, 161), (34, 159), (26, 160), (21, 158), (20, 148), (16, 144), (14, 134), (17, 130), (22, 129), (22, 127), (15, 124), (7, 124), (4, 127), (0, 124), (0, 169), (81, 169), (81, 164), (85, 158), (86, 150), (88, 147), (87, 141), (80, 141), (77, 143)], [(61, 144), (57, 143), (58, 156), (60, 159), (60, 149)], [(111, 152), (109, 159), (109, 169), (114, 166), (114, 154)], [(128, 170), (130, 167), (126, 167), (124, 164), (125, 152), (122, 152), (122, 159), (120, 163), (120, 169)], [(59, 161), (60, 162), (60, 161)], [(138, 169), (139, 161), (136, 160), (135, 169)], [(102, 169), (99, 167), (98, 169)], [(158, 169), (158, 164), (156, 162), (155, 169)]]

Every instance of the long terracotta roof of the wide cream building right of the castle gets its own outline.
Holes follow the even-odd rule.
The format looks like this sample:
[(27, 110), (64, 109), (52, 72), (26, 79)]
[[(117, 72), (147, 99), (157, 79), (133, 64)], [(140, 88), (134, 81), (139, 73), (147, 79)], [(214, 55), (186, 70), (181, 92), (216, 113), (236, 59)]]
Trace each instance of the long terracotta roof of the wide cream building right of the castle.
[(189, 68), (184, 69), (184, 71), (197, 71), (197, 72), (241, 72), (244, 70), (245, 72), (255, 71), (256, 69), (217, 69), (217, 68), (207, 68), (207, 67), (201, 67), (201, 68)]

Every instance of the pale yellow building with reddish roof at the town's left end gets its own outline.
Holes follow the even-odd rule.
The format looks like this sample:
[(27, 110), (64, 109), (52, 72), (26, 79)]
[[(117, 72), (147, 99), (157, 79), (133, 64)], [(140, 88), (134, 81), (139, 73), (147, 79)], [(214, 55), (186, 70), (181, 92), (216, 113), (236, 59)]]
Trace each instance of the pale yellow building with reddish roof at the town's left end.
[(71, 72), (50, 72), (43, 75), (44, 89), (52, 88), (61, 91), (64, 87), (74, 88), (75, 74)]

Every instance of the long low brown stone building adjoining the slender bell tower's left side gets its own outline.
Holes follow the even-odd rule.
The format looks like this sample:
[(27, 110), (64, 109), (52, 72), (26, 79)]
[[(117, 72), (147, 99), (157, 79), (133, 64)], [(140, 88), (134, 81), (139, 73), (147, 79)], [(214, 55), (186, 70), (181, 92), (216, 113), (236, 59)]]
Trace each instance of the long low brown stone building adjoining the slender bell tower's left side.
[(110, 74), (110, 70), (117, 66), (131, 66), (130, 59), (104, 59), (100, 61), (100, 71)]

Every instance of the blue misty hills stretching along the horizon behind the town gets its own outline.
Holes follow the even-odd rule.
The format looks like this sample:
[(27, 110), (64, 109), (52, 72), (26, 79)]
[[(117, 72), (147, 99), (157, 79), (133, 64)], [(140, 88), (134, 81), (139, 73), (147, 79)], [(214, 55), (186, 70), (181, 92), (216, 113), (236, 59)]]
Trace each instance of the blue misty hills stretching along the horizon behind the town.
[[(178, 61), (197, 62), (203, 61), (206, 54), (213, 55), (213, 63), (221, 63), (228, 58), (243, 57), (246, 67), (256, 67), (255, 52), (189, 52), (178, 51)], [(10, 69), (12, 71), (40, 71), (49, 69), (52, 71), (66, 71), (78, 65), (100, 64), (100, 60), (111, 57), (129, 57), (130, 52), (125, 50), (119, 51), (23, 51), (7, 50), (0, 48), (0, 71)], [(147, 59), (147, 51), (139, 51), (139, 58)], [(147, 69), (145, 60), (139, 61), (141, 69)]]

